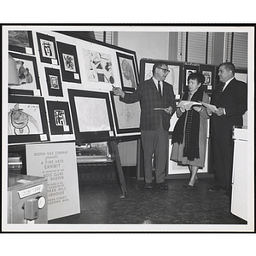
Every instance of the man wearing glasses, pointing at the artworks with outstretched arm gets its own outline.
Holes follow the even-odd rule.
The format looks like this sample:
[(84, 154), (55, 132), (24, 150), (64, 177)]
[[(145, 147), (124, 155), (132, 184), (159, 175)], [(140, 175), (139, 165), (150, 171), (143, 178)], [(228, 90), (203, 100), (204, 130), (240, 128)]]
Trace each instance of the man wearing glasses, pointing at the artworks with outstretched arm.
[(164, 182), (168, 157), (168, 130), (170, 119), (176, 110), (175, 95), (171, 84), (165, 82), (170, 72), (165, 62), (154, 64), (153, 77), (138, 84), (133, 93), (125, 93), (118, 87), (113, 93), (120, 101), (141, 104), (141, 138), (144, 157), (145, 188), (153, 188), (152, 157), (155, 159), (155, 186), (168, 189)]

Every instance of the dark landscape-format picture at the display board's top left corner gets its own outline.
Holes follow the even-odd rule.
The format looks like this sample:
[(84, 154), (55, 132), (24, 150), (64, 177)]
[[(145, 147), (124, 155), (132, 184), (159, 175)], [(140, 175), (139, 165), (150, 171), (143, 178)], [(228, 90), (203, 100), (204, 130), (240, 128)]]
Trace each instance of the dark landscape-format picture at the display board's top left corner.
[(9, 50), (34, 55), (31, 31), (9, 30)]

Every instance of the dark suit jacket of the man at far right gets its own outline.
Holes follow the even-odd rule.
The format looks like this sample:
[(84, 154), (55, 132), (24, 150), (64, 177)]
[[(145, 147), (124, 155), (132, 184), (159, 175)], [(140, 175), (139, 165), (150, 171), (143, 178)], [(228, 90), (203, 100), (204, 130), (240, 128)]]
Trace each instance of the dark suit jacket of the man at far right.
[(218, 137), (226, 137), (233, 125), (242, 125), (242, 115), (247, 111), (247, 84), (232, 79), (217, 100), (219, 87), (213, 91), (211, 104), (224, 108), (226, 114), (212, 114), (211, 124)]

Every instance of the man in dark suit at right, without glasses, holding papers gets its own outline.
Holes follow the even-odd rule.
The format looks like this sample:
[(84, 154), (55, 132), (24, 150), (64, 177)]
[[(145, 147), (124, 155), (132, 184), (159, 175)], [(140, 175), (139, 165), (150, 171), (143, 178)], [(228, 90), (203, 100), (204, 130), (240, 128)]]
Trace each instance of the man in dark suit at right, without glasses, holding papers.
[(221, 84), (213, 91), (211, 104), (218, 110), (208, 111), (211, 117), (211, 140), (216, 186), (209, 191), (225, 190), (230, 196), (232, 178), (232, 131), (242, 126), (242, 115), (247, 111), (247, 84), (235, 79), (235, 66), (224, 62), (218, 67)]

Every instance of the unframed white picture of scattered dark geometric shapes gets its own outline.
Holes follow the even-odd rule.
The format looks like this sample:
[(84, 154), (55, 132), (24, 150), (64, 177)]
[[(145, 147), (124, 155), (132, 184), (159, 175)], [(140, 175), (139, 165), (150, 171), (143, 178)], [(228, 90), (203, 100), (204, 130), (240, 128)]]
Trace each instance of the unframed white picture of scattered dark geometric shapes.
[(111, 55), (83, 49), (83, 56), (89, 82), (114, 83)]

